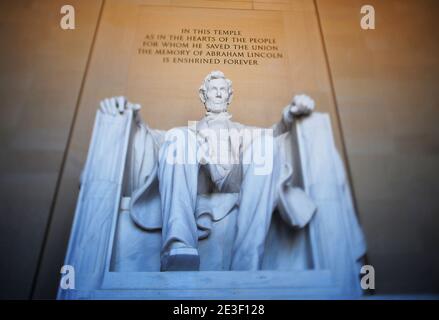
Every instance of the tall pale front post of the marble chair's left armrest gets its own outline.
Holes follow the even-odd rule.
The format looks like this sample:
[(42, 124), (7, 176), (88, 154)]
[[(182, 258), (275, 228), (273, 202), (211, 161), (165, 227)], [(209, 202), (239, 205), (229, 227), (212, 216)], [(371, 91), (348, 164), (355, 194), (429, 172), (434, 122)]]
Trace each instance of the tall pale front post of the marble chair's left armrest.
[[(65, 261), (75, 268), (82, 289), (97, 288), (108, 271), (110, 234), (121, 198), (133, 115), (125, 109), (118, 116), (108, 116), (117, 106), (114, 102), (107, 99), (105, 113), (98, 111), (96, 115)], [(64, 294), (60, 290), (59, 297)]]

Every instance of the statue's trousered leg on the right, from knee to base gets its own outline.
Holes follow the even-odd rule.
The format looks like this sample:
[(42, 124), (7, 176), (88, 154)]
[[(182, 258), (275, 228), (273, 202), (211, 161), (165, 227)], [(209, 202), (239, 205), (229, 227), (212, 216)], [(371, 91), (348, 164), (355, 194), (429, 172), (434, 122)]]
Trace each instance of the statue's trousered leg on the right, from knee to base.
[[(255, 161), (245, 163), (244, 160), (243, 163), (243, 181), (239, 195), (231, 270), (259, 270), (262, 264), (265, 238), (277, 202), (281, 165), (277, 139), (272, 141), (272, 154), (264, 156), (266, 161), (271, 161), (271, 170), (258, 170), (260, 165)], [(258, 148), (254, 147), (247, 148), (244, 153), (257, 152), (257, 150)], [(244, 159), (249, 157), (249, 154), (243, 156)]]

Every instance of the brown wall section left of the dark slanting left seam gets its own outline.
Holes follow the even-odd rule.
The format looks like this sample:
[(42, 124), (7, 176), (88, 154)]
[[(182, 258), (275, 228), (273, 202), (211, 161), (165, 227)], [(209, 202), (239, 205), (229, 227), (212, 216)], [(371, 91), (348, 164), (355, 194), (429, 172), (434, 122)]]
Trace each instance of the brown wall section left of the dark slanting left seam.
[(70, 3), (75, 31), (64, 1), (0, 2), (0, 298), (31, 296), (56, 202), (100, 10)]

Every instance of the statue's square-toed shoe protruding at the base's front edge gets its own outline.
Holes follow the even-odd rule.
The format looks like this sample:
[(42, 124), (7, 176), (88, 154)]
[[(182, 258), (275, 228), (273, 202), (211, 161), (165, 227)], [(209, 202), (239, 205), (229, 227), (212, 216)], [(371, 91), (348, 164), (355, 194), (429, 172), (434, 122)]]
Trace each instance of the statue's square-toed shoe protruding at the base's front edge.
[(199, 271), (200, 256), (194, 248), (171, 249), (161, 259), (160, 271)]

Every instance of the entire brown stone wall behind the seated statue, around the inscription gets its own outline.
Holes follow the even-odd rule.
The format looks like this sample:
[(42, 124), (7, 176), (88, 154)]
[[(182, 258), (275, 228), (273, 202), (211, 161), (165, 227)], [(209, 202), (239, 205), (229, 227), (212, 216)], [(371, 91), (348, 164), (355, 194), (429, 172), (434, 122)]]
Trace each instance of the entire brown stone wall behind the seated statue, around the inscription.
[[(77, 29), (63, 31), (63, 1), (2, 2), (0, 297), (54, 297), (99, 100), (127, 95), (151, 126), (185, 125), (202, 115), (196, 89), (216, 68), (234, 80), (240, 122), (274, 123), (297, 92), (331, 114), (377, 292), (438, 293), (437, 5), (368, 3), (373, 31), (360, 28), (357, 0), (76, 0)], [(194, 20), (275, 34), (284, 57), (212, 67), (137, 54), (145, 30)]]

